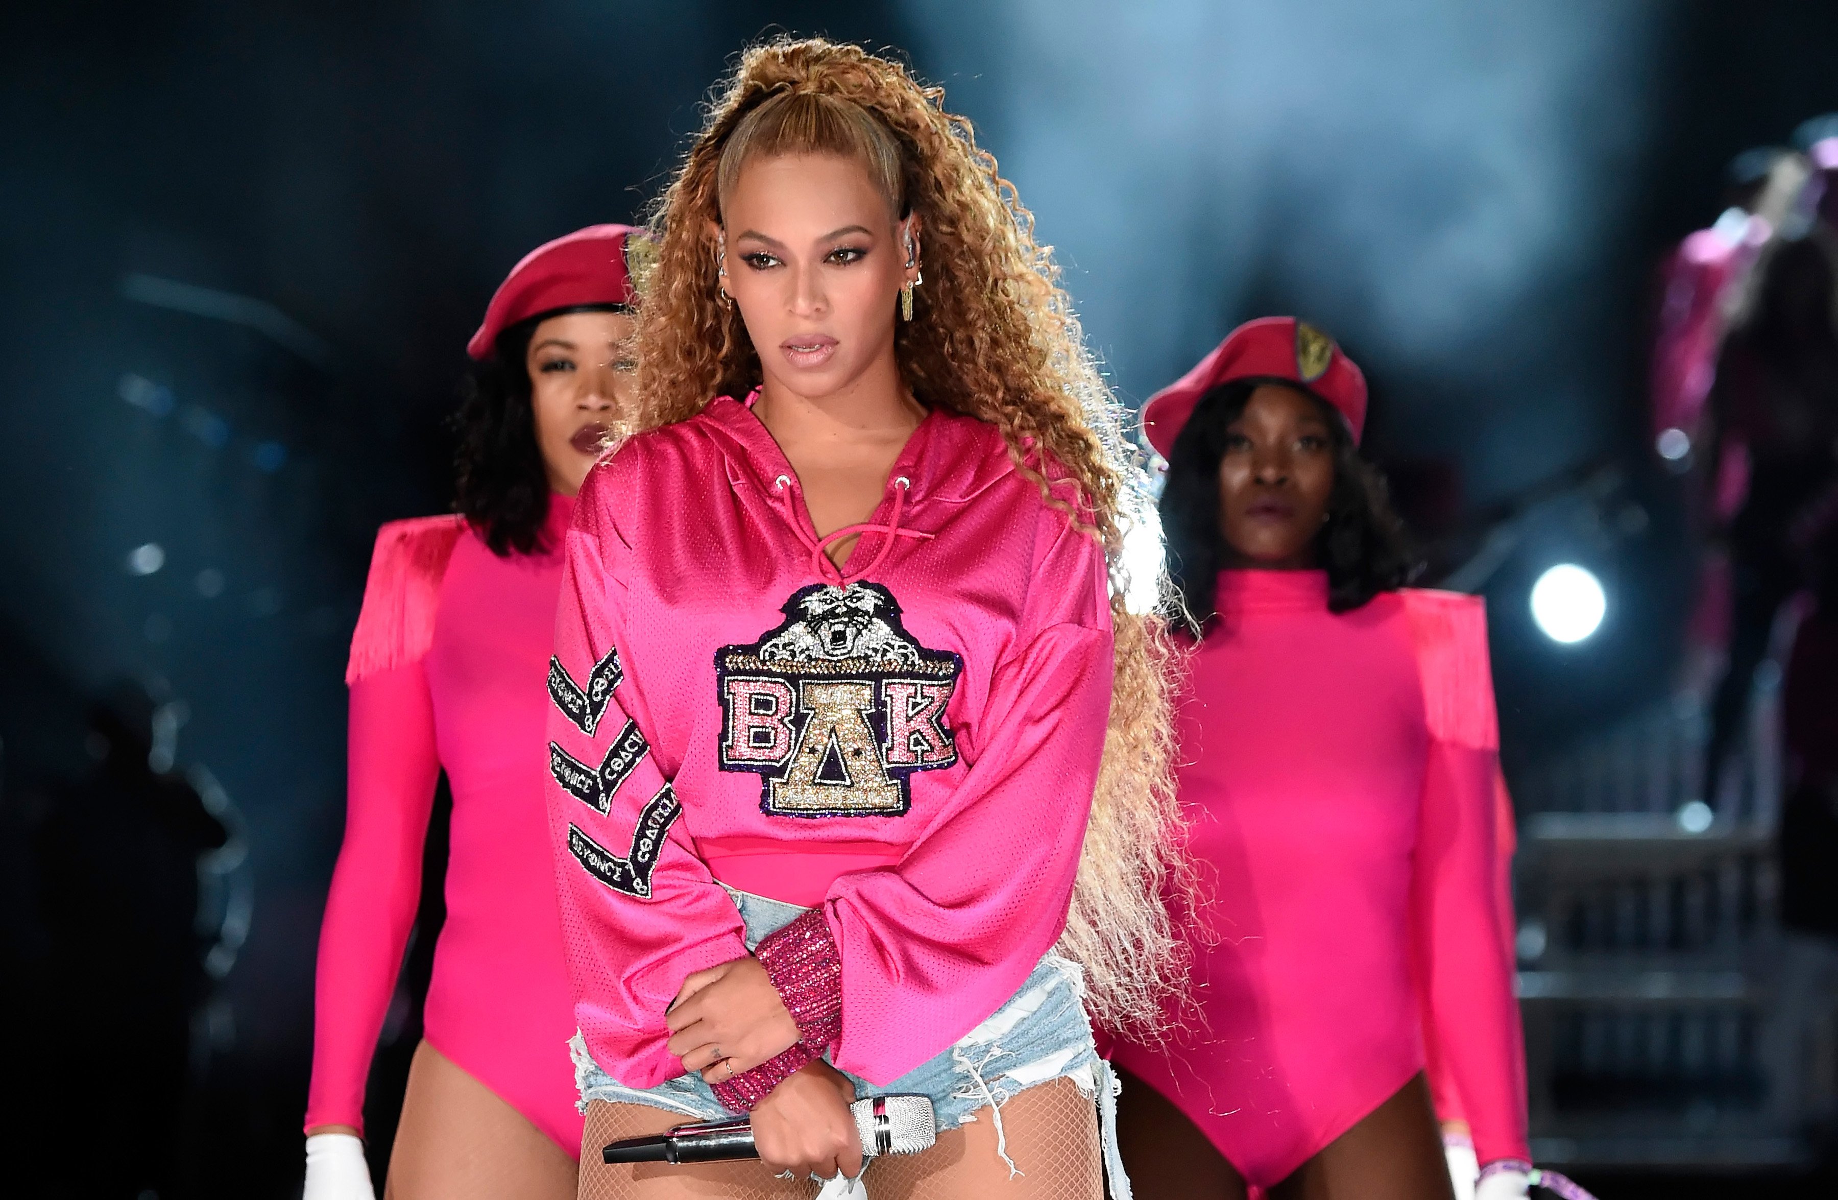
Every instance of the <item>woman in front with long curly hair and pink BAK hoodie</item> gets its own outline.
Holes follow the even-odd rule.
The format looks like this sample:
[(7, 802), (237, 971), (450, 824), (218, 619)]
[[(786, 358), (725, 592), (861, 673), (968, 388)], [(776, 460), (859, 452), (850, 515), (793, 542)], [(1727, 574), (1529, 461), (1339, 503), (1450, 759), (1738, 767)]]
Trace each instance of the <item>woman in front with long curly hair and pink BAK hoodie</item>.
[[(1173, 950), (1116, 402), (969, 127), (853, 46), (748, 51), (658, 230), (550, 676), (581, 1194), (811, 1194), (921, 1092), (875, 1200), (1097, 1200), (1081, 1000), (1154, 1020)], [(728, 1114), (765, 1163), (597, 1161)]]

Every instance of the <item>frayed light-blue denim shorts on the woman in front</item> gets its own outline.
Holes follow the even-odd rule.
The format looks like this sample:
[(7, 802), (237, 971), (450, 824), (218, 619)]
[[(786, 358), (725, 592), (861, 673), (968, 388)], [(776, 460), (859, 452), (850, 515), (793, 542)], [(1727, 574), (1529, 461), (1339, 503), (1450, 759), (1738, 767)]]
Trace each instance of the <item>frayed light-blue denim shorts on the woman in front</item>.
[[(752, 950), (800, 913), (796, 904), (770, 900), (748, 891), (728, 888), (741, 921), (746, 926), (746, 948)], [(886, 1086), (875, 1086), (860, 1075), (844, 1071), (855, 1084), (857, 1097), (923, 1093), (932, 1097), (937, 1128), (952, 1130), (978, 1108), (994, 1110), (996, 1130), (1002, 1130), (1002, 1104), (1018, 1092), (1055, 1079), (1070, 1079), (1079, 1092), (1095, 1097), (1101, 1117), (1105, 1169), (1112, 1178), (1112, 1196), (1129, 1198), (1129, 1182), (1116, 1156), (1116, 1093), (1118, 1081), (1110, 1064), (1097, 1057), (1092, 1046), (1092, 1024), (1084, 1014), (1084, 972), (1077, 963), (1048, 954), (1033, 968), (1020, 991), (1000, 1009), (941, 1055), (919, 1064)], [(575, 1066), (575, 1088), (581, 1092), (581, 1110), (592, 1101), (616, 1104), (649, 1104), (684, 1114), (689, 1121), (719, 1121), (730, 1117), (713, 1090), (695, 1071), (667, 1079), (654, 1088), (627, 1088), (608, 1075), (588, 1055), (579, 1033), (568, 1042)], [(1009, 1171), (1015, 1160), (1002, 1150)], [(1119, 1187), (1121, 1183), (1121, 1187)]]

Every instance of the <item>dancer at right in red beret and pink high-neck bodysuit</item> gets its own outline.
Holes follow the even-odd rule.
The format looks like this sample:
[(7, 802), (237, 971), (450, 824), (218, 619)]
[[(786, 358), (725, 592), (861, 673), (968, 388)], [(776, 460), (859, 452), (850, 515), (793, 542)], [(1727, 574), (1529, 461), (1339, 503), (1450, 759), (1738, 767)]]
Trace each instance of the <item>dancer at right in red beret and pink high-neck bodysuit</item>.
[(1364, 415), (1358, 368), (1290, 318), (1237, 329), (1143, 413), (1198, 630), (1180, 798), (1217, 897), (1182, 913), (1202, 1018), (1116, 1053), (1143, 1194), (1448, 1196), (1426, 1047), (1485, 1194), (1526, 1193), (1485, 616), (1399, 590)]

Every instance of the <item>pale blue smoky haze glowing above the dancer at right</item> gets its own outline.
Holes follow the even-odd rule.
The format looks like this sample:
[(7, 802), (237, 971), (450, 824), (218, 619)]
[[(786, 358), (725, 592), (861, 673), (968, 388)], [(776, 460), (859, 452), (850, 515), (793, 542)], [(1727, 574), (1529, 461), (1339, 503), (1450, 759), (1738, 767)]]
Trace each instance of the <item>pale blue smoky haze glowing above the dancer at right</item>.
[(1470, 500), (1606, 441), (1628, 347), (1599, 274), (1641, 184), (1663, 6), (908, 11), (1127, 395), (1296, 311), (1377, 377), (1382, 436), (1456, 454)]

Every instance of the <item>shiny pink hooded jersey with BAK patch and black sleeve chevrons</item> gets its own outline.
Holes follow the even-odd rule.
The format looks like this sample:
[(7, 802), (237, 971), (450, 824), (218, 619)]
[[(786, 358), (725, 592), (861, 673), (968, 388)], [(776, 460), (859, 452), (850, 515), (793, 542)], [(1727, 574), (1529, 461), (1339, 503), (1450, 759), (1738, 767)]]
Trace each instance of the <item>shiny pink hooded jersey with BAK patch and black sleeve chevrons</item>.
[(665, 1007), (746, 954), (717, 880), (816, 908), (834, 1064), (871, 1082), (994, 1013), (1066, 923), (1110, 711), (1103, 549), (943, 410), (864, 527), (836, 572), (726, 397), (581, 491), (550, 821), (575, 1018), (629, 1088), (682, 1075)]

